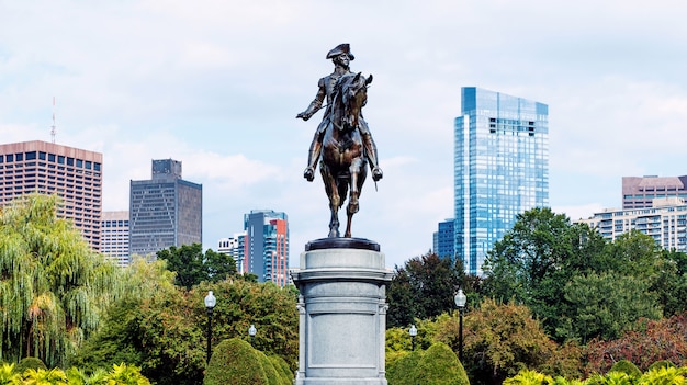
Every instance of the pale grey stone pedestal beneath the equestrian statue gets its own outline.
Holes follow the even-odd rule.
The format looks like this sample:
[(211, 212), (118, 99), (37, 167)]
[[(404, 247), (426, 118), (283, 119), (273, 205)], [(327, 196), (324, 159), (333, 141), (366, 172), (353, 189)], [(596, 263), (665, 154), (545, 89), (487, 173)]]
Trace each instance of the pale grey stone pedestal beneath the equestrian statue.
[(308, 242), (293, 281), (299, 297), (296, 385), (386, 385), (386, 285), (379, 244)]

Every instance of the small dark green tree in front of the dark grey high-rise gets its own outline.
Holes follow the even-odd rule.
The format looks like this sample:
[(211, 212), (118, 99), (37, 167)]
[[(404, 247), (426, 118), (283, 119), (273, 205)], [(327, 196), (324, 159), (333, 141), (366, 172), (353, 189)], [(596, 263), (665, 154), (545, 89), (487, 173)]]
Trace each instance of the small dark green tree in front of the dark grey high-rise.
[(167, 269), (177, 273), (177, 284), (187, 290), (203, 281), (218, 282), (236, 274), (236, 262), (229, 256), (207, 249), (201, 244), (174, 246), (157, 252), (167, 261)]

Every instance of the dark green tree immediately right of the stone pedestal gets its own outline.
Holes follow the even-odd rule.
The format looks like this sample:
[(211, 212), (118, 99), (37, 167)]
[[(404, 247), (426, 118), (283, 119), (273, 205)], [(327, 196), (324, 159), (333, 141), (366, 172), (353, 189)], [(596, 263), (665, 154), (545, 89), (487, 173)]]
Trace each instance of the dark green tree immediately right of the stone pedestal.
[(405, 327), (414, 318), (427, 319), (455, 307), (453, 295), (464, 280), (463, 265), (435, 253), (412, 258), (396, 267), (387, 292), (386, 320)]

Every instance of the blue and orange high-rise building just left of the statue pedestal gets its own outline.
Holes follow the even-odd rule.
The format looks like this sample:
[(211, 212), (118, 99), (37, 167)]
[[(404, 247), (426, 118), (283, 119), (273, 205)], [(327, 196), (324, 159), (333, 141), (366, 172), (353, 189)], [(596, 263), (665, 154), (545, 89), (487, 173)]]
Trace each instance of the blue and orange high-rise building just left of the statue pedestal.
[[(244, 272), (258, 275), (258, 282), (289, 284), (289, 218), (285, 213), (252, 210), (244, 215)], [(240, 244), (240, 237), (239, 237)], [(236, 261), (237, 265), (239, 260)]]

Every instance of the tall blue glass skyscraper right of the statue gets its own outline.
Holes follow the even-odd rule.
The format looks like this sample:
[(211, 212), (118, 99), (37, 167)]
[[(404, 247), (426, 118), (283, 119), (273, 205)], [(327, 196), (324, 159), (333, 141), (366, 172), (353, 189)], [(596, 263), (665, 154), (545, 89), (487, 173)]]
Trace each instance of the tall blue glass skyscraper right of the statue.
[(475, 87), (455, 118), (455, 257), (482, 275), (516, 215), (549, 205), (549, 107)]

